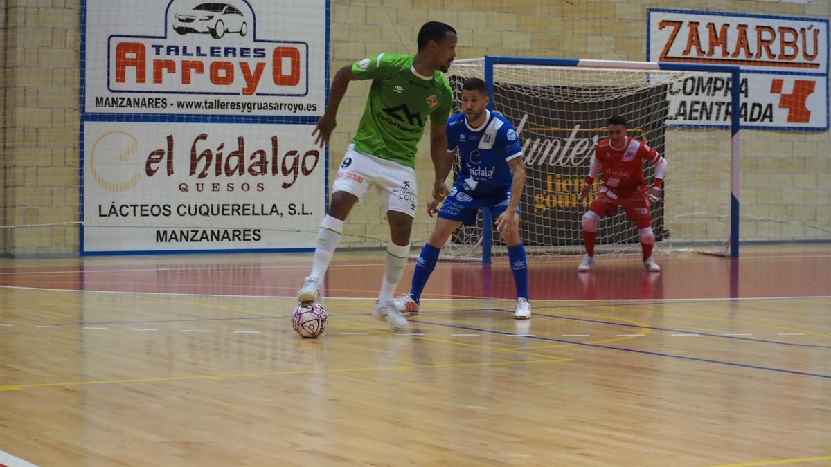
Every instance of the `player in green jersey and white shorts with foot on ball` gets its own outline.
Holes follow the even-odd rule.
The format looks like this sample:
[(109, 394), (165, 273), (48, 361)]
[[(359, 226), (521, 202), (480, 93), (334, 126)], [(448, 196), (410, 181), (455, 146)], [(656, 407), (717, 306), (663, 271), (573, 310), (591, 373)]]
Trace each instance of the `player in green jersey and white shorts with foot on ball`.
[(386, 270), (373, 316), (386, 320), (392, 331), (409, 327), (393, 304), (393, 293), (410, 254), (410, 231), (416, 216), (416, 150), (430, 120), (430, 156), (435, 166), (433, 196), (444, 199), (447, 186), (445, 124), (450, 116), (453, 92), (442, 74), (456, 56), (456, 32), (443, 22), (426, 22), (418, 33), (415, 56), (381, 53), (344, 66), (335, 75), (329, 105), (312, 135), (316, 144), (329, 142), (337, 122), (337, 107), (349, 81), (372, 80), (366, 108), (332, 185), (329, 212), (317, 234), (312, 273), (297, 292), (300, 302), (320, 299), (323, 274), (341, 240), (343, 221), (357, 201), (375, 185), (387, 204), (391, 242), (386, 247)]

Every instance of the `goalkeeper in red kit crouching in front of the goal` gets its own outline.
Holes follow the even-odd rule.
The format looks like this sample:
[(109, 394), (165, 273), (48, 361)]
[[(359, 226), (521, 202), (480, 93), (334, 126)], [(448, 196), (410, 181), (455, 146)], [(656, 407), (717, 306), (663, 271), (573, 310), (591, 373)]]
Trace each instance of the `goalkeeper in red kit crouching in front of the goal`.
[[(603, 172), (603, 186), (586, 214), (583, 214), (586, 254), (578, 266), (578, 271), (586, 272), (594, 267), (597, 226), (600, 219), (617, 213), (618, 206), (622, 207), (629, 220), (637, 225), (637, 232), (641, 237), (643, 268), (647, 271), (660, 271), (661, 267), (652, 259), (655, 234), (652, 233), (650, 207), (661, 199), (666, 159), (647, 143), (629, 137), (629, 126), (622, 116), (613, 116), (606, 123), (609, 137), (597, 143), (586, 185), (580, 193), (580, 199), (584, 199), (594, 179)], [(655, 184), (652, 184), (651, 188), (647, 188), (647, 179), (643, 175), (643, 160), (655, 165)]]

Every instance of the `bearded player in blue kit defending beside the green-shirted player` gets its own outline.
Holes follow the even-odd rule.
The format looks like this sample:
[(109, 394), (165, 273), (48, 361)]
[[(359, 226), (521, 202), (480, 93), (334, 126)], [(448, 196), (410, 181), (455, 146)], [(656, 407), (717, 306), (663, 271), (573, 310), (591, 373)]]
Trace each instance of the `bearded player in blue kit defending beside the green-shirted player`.
[[(479, 209), (487, 208), (496, 216), (496, 228), (508, 245), (517, 289), (514, 317), (531, 317), (528, 266), (525, 247), (519, 238), (519, 199), (525, 187), (522, 148), (514, 125), (504, 116), (487, 110), (489, 101), (484, 81), (479, 78), (465, 81), (462, 86), (464, 113), (450, 117), (446, 130), (447, 150), (450, 155), (459, 150), (461, 168), (441, 209), (436, 209), (441, 199), (435, 196), (427, 203), (427, 214), (432, 216), (438, 212), (438, 219), (416, 262), (410, 295), (395, 302), (400, 312), (418, 314), (421, 291), (435, 268), (441, 248), (461, 224), (474, 225)], [(437, 174), (436, 179), (441, 179), (440, 176)]]

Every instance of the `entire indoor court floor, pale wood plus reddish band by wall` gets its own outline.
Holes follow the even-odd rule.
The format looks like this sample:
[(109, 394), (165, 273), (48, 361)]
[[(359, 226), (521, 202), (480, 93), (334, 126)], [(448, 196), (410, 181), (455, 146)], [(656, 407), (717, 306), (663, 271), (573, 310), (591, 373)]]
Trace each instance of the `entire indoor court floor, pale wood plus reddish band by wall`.
[[(440, 263), (411, 332), (338, 253), (0, 260), (0, 465), (831, 465), (831, 248)], [(412, 263), (400, 292), (409, 288)]]

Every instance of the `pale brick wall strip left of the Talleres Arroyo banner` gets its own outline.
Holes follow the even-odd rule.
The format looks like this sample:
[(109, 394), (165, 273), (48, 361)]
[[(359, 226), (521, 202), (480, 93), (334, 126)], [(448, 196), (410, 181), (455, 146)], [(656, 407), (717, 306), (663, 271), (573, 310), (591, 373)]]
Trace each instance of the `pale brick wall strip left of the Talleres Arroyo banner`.
[(80, 0), (9, 0), (4, 253), (77, 253)]

